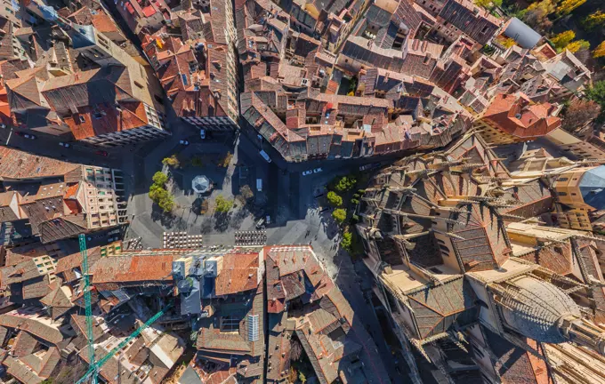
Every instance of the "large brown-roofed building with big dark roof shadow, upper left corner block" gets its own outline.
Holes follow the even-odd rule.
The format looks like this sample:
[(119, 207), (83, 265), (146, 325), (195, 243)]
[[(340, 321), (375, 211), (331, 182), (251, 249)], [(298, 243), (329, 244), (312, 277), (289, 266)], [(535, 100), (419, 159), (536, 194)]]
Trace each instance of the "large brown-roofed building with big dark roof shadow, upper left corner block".
[[(93, 67), (83, 71), (44, 65), (17, 71), (5, 82), (17, 124), (107, 147), (170, 134), (165, 129), (163, 95), (151, 68), (93, 24), (72, 22), (66, 33), (72, 43), (69, 52), (90, 60)], [(55, 44), (55, 53), (60, 47), (65, 51), (64, 44)]]

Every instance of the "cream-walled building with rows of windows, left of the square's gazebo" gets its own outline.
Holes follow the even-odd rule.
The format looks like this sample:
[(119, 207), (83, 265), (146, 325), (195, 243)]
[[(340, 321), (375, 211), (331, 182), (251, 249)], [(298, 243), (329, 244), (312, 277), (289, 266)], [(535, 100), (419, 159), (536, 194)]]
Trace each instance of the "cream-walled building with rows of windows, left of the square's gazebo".
[(0, 156), (0, 177), (13, 189), (3, 194), (3, 221), (28, 220), (43, 243), (126, 223), (121, 171), (11, 148), (0, 148)]

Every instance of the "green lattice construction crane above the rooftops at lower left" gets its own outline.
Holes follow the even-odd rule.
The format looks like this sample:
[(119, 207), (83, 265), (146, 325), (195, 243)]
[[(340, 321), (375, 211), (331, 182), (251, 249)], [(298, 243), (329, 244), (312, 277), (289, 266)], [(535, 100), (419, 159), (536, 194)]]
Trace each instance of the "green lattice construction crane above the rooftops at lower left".
[[(144, 324), (137, 328), (133, 333), (130, 334), (125, 340), (113, 348), (109, 353), (103, 356), (99, 361), (94, 361), (94, 335), (93, 335), (93, 309), (91, 304), (91, 285), (90, 285), (90, 272), (88, 268), (88, 251), (86, 249), (86, 237), (84, 234), (78, 236), (80, 243), (80, 254), (82, 255), (82, 274), (84, 277), (84, 302), (85, 302), (85, 313), (86, 313), (86, 338), (88, 339), (88, 371), (82, 377), (77, 380), (77, 384), (81, 384), (88, 379), (91, 379), (91, 384), (97, 384), (98, 374), (101, 371), (103, 364), (107, 363), (111, 357), (117, 354), (117, 352), (124, 348), (130, 340), (133, 340), (141, 334), (149, 325), (156, 322), (158, 318), (163, 316), (165, 312), (173, 307), (173, 303), (169, 303), (165, 308), (157, 312), (156, 315), (151, 316)], [(119, 372), (118, 372), (119, 374)]]

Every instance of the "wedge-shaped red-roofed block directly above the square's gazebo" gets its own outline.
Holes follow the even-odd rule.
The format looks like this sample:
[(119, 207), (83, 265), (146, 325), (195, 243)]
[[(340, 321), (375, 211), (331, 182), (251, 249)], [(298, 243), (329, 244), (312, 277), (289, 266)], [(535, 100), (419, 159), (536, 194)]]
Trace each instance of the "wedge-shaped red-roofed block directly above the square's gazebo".
[(182, 39), (160, 29), (144, 37), (143, 49), (177, 116), (200, 129), (234, 130), (238, 68), (233, 10), (231, 4), (213, 0), (209, 11), (183, 13)]

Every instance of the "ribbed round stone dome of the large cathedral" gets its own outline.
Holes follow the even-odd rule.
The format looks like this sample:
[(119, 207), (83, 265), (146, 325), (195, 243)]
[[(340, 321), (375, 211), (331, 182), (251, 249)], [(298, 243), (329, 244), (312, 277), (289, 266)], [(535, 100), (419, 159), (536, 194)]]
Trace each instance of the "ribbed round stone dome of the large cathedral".
[(561, 343), (567, 339), (559, 331), (562, 316), (581, 316), (569, 295), (553, 284), (531, 276), (508, 282), (512, 287), (498, 301), (504, 321), (530, 339)]

